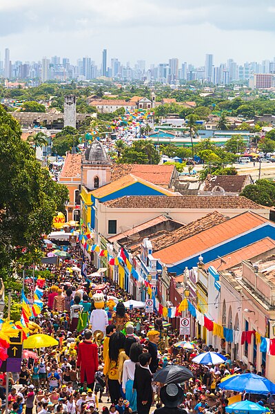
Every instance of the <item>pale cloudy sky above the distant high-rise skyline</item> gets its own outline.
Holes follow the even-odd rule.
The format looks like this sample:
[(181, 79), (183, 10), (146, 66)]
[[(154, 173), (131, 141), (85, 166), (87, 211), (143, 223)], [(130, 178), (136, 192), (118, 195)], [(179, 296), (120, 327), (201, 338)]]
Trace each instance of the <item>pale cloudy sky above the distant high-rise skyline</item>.
[(179, 61), (204, 65), (233, 58), (261, 62), (275, 56), (274, 0), (0, 0), (0, 52), (10, 59), (101, 52), (146, 66)]

